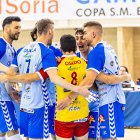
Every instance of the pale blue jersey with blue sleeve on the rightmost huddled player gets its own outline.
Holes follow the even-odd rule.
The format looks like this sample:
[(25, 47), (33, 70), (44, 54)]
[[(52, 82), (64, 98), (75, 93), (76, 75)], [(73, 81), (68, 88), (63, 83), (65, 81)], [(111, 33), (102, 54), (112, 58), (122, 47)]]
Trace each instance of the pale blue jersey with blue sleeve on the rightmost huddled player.
[[(105, 42), (99, 42), (88, 54), (87, 70), (117, 75), (119, 66), (114, 49)], [(115, 101), (125, 104), (125, 96), (121, 84), (111, 85), (101, 81), (96, 81), (96, 84), (99, 91), (100, 106)]]

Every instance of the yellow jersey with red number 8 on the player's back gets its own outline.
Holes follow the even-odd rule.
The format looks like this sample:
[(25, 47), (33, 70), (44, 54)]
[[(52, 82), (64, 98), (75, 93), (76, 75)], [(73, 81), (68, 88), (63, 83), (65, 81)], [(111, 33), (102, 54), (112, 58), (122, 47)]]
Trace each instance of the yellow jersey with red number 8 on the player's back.
[[(58, 65), (58, 75), (73, 85), (79, 85), (86, 74), (86, 62), (77, 56), (68, 56), (62, 58)], [(57, 103), (63, 100), (71, 91), (56, 86)], [(56, 120), (62, 122), (70, 122), (83, 119), (88, 116), (88, 102), (86, 99), (78, 95), (73, 102), (64, 110), (56, 110)]]

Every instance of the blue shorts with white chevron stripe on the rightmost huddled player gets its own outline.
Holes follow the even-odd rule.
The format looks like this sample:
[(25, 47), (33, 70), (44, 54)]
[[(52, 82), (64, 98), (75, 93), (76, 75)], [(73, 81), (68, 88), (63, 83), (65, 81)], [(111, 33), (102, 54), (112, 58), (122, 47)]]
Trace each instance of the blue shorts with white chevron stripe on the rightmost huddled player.
[(100, 136), (103, 139), (124, 137), (124, 104), (119, 102), (101, 106)]

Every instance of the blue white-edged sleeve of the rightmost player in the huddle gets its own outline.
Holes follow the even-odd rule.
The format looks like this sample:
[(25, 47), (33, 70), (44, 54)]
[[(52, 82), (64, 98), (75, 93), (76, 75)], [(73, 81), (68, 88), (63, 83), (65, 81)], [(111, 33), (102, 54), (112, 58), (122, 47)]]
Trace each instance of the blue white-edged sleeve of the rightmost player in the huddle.
[(104, 48), (103, 47), (94, 48), (88, 54), (87, 70), (94, 70), (97, 73), (100, 73), (100, 71), (103, 69), (104, 63), (105, 63)]

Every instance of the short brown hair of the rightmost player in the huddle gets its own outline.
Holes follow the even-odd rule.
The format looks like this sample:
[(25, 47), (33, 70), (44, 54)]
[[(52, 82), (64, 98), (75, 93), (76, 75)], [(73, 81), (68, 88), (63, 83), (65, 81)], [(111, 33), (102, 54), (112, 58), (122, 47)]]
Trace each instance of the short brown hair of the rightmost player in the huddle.
[(86, 22), (85, 24), (84, 24), (84, 28), (85, 27), (96, 27), (98, 30), (100, 30), (101, 31), (101, 33), (103, 32), (103, 27), (102, 27), (102, 25), (99, 23), (99, 22), (96, 22), (96, 21), (89, 21), (89, 22)]

